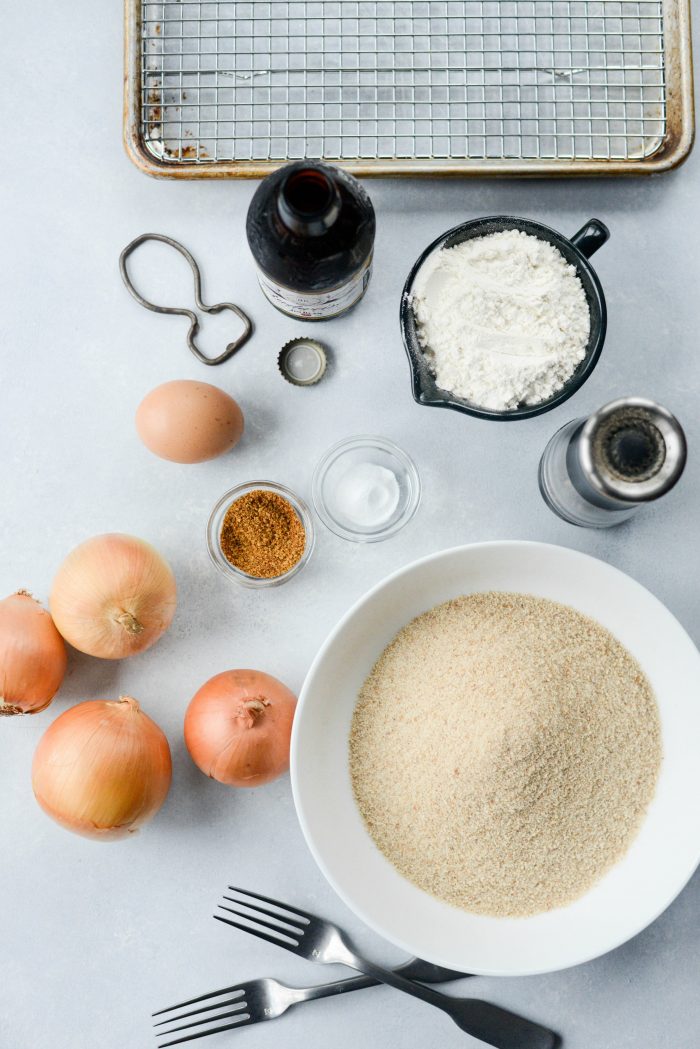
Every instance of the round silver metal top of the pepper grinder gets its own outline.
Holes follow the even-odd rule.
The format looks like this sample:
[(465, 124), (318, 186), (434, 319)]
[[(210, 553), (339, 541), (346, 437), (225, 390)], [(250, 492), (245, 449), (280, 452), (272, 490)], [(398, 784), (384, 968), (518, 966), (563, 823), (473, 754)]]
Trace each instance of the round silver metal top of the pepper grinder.
[(576, 440), (578, 464), (592, 488), (621, 502), (651, 502), (683, 472), (683, 429), (666, 408), (646, 398), (611, 401), (586, 420)]

